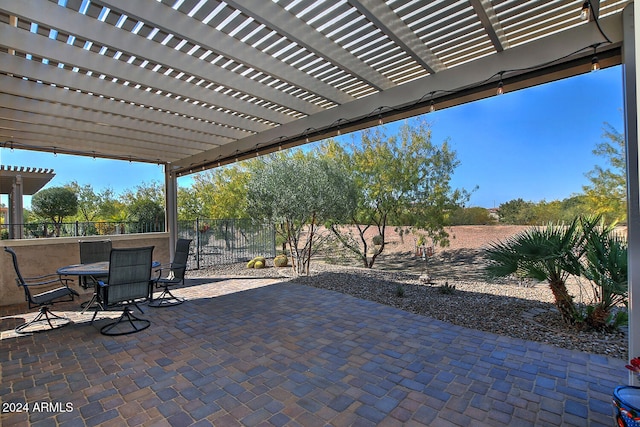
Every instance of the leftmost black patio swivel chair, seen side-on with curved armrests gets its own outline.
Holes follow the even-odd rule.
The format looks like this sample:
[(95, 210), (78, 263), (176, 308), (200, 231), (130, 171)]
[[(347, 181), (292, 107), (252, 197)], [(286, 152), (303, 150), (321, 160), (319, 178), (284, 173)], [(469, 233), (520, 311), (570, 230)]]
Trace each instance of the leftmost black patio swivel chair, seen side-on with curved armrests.
[(24, 297), (29, 309), (39, 307), (38, 315), (31, 321), (18, 325), (15, 331), (19, 334), (39, 332), (43, 325), (49, 325), (51, 329), (60, 328), (71, 322), (67, 317), (58, 316), (49, 310), (49, 306), (56, 302), (73, 301), (74, 296), (80, 296), (75, 290), (69, 287), (68, 278), (62, 278), (58, 274), (46, 274), (36, 277), (24, 277), (18, 267), (18, 256), (10, 248), (4, 248), (5, 252), (11, 255), (13, 268), (16, 272), (16, 283), (24, 290)]

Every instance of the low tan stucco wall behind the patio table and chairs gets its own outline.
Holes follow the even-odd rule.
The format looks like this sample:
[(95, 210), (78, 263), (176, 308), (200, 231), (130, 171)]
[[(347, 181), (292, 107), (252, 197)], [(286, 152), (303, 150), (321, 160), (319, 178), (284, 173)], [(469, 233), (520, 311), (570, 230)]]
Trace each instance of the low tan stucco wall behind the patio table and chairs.
[[(91, 237), (58, 237), (51, 239), (3, 240), (0, 242), (0, 305), (25, 303), (24, 292), (16, 285), (16, 274), (11, 262), (11, 255), (4, 252), (9, 246), (18, 255), (20, 272), (25, 277), (40, 276), (55, 273), (65, 265), (80, 262), (79, 240), (110, 239), (114, 248), (133, 248), (140, 246), (154, 246), (153, 259), (161, 263), (170, 262), (169, 234), (145, 233), (127, 234), (121, 236), (91, 236)], [(91, 289), (85, 290), (74, 277), (72, 287), (81, 295), (90, 294)]]

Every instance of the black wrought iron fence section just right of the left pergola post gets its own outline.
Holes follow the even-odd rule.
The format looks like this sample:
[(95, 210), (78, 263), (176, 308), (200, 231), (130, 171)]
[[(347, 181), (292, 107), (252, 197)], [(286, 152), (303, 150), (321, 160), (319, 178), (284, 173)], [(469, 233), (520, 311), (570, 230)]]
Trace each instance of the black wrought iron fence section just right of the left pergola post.
[(273, 226), (249, 219), (179, 221), (178, 236), (193, 240), (189, 265), (196, 269), (276, 254)]

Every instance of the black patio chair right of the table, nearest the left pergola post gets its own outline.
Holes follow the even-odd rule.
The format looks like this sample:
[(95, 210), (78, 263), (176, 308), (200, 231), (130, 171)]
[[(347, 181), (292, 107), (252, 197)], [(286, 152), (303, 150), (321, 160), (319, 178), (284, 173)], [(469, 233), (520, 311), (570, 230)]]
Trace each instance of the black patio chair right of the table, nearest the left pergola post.
[[(169, 287), (180, 284), (184, 285), (184, 274), (187, 270), (190, 245), (191, 239), (178, 239), (173, 262), (168, 266), (156, 270), (158, 277), (153, 280), (153, 283), (156, 288), (162, 288), (162, 293), (159, 297), (153, 298), (153, 288), (151, 289), (149, 307), (169, 307), (184, 302), (184, 299), (174, 296), (169, 290)], [(166, 272), (165, 277), (162, 277), (163, 272)]]

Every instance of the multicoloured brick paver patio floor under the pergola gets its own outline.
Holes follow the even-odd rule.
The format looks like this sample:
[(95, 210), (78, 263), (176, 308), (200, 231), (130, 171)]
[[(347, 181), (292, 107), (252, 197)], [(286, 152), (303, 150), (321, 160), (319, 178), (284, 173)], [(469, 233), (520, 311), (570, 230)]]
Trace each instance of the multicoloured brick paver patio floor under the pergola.
[(1, 424), (610, 426), (627, 381), (623, 360), (335, 292), (200, 282), (180, 306), (144, 307), (151, 327), (129, 336), (100, 335), (77, 302), (59, 306), (73, 324), (31, 336), (3, 317)]

